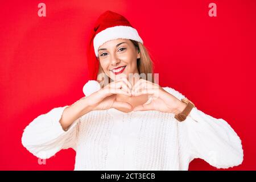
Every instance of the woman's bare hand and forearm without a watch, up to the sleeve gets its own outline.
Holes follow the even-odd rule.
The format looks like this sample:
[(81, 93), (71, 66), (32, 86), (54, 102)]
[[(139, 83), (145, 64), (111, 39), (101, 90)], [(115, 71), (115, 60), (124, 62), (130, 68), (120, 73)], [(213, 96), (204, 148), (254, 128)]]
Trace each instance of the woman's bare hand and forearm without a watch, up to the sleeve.
[(120, 102), (116, 99), (117, 94), (131, 96), (131, 88), (131, 83), (126, 77), (123, 77), (117, 81), (111, 82), (97, 92), (90, 94), (90, 96), (80, 98), (80, 100), (64, 109), (60, 119), (63, 130), (67, 131), (68, 127), (71, 126), (77, 118), (80, 118), (82, 115), (92, 110), (106, 110), (112, 107), (132, 109), (133, 106), (129, 103)]

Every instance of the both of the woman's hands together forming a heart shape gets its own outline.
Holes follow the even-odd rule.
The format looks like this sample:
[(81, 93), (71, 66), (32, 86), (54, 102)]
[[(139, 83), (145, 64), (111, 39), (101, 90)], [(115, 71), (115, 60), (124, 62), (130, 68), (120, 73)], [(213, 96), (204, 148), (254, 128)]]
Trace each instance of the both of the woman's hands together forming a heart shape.
[[(123, 94), (129, 97), (146, 94), (151, 96), (151, 102), (133, 107), (128, 102), (117, 101), (117, 94)], [(184, 108), (185, 106), (183, 102), (166, 92), (158, 84), (139, 79), (132, 86), (125, 77), (106, 85), (88, 98), (90, 98), (93, 110), (117, 109), (122, 107), (133, 111), (158, 110), (165, 113), (177, 114), (181, 110), (180, 107)]]

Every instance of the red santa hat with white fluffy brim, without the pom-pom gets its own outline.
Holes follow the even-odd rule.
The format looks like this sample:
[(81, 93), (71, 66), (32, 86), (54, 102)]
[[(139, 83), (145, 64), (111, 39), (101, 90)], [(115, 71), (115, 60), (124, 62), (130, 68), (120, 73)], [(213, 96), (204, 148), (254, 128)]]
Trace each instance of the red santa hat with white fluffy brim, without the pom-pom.
[(94, 24), (90, 33), (89, 45), (87, 47), (87, 63), (89, 80), (97, 80), (97, 73), (100, 63), (97, 59), (98, 48), (114, 39), (131, 39), (143, 44), (137, 30), (122, 15), (113, 11), (105, 11)]

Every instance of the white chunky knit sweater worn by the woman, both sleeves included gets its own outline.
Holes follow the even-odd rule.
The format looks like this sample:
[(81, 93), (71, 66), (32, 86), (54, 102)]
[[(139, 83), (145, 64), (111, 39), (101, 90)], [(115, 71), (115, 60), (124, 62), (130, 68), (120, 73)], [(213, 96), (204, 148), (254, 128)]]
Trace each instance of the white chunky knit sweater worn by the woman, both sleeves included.
[(65, 107), (39, 115), (24, 129), (22, 144), (36, 157), (48, 159), (73, 148), (75, 170), (188, 170), (195, 158), (228, 168), (243, 161), (241, 140), (232, 127), (196, 107), (183, 122), (154, 110), (90, 111), (64, 131), (59, 120)]

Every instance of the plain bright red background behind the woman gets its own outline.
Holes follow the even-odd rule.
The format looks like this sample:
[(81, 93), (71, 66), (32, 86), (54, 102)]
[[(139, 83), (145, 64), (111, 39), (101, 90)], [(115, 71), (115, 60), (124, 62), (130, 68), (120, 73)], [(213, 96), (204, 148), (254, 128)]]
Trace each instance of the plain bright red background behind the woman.
[[(88, 81), (86, 43), (106, 10), (137, 28), (159, 73), (197, 108), (225, 119), (241, 137), (243, 163), (255, 170), (255, 1), (42, 1), (0, 3), (0, 169), (70, 169), (75, 151), (62, 150), (45, 165), (22, 146), (23, 129), (53, 107), (83, 97)], [(217, 17), (208, 5), (217, 4)], [(214, 170), (201, 159), (190, 170)]]

